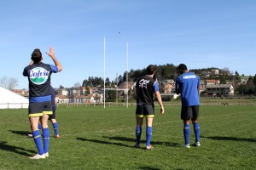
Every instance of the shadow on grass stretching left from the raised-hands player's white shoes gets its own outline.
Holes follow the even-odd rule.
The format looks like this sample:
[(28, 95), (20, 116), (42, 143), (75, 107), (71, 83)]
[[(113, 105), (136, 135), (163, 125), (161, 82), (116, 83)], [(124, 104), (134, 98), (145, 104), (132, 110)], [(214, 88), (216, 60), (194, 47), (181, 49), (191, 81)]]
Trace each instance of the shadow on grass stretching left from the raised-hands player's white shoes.
[(35, 153), (34, 150), (26, 150), (26, 149), (21, 148), (21, 147), (17, 147), (17, 146), (14, 146), (14, 145), (9, 145), (9, 144), (7, 144), (7, 142), (0, 142), (0, 149), (1, 150), (7, 150), (7, 151), (10, 151), (10, 152), (15, 152), (15, 153), (20, 154), (22, 156), (31, 156), (30, 154), (27, 154), (26, 152), (31, 152), (32, 154)]

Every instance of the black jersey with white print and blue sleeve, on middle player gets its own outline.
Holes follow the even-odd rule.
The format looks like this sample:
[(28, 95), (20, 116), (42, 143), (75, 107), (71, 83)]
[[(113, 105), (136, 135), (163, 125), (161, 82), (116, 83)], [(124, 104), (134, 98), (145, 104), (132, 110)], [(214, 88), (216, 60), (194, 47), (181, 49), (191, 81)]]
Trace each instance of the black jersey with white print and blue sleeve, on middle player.
[(154, 104), (153, 94), (159, 91), (159, 84), (152, 77), (143, 76), (137, 80), (137, 104)]

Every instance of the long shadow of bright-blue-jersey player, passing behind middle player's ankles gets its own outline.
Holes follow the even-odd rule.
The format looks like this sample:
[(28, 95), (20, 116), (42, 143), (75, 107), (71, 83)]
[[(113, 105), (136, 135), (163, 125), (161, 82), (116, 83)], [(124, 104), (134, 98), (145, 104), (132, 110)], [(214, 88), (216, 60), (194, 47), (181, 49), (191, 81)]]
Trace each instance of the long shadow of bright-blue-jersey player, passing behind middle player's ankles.
[[(131, 139), (131, 138), (125, 138), (125, 137), (119, 137), (119, 136), (114, 136), (114, 137), (108, 137), (108, 136), (102, 136), (102, 138), (107, 138), (107, 139), (111, 139), (111, 140), (120, 140), (120, 141), (128, 141), (128, 142), (132, 142), (133, 144), (136, 143), (136, 139)], [(146, 140), (141, 140), (141, 143), (146, 143)], [(160, 142), (160, 141), (154, 141), (152, 140), (150, 142), (151, 144), (160, 144), (160, 145), (166, 145), (166, 146), (178, 146), (180, 147), (180, 144), (178, 143), (172, 143), (172, 142)]]

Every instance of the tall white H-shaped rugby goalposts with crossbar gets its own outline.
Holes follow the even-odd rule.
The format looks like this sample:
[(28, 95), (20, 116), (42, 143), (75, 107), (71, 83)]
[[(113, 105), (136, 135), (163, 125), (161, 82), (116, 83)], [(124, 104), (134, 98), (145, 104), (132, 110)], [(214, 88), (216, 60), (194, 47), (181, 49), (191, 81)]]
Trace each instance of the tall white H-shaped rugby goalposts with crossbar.
[[(106, 89), (107, 90), (115, 90), (115, 91), (121, 91), (121, 90), (126, 90), (126, 107), (128, 108), (128, 42), (126, 42), (126, 88), (106, 88), (105, 85), (106, 82), (106, 37), (104, 37), (104, 109), (106, 108)], [(117, 96), (118, 97), (118, 96)]]

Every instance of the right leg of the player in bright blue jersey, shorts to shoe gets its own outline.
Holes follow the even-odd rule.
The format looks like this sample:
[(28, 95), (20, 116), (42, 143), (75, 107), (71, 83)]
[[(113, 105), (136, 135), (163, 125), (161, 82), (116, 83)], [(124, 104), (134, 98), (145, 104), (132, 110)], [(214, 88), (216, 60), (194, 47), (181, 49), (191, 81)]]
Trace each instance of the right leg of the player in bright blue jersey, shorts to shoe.
[(195, 133), (195, 146), (200, 146), (200, 127), (198, 123), (198, 116), (199, 116), (199, 105), (193, 106), (193, 126), (194, 126), (194, 133)]

